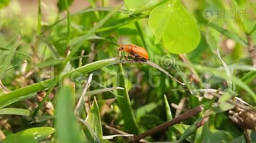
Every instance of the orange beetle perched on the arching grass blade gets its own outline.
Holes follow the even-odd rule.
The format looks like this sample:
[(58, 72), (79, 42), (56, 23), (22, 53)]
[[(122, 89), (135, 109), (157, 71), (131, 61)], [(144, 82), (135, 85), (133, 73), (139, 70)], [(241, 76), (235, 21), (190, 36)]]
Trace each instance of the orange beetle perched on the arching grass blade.
[[(118, 51), (126, 51), (128, 55), (126, 56), (126, 59), (130, 55), (132, 57), (132, 61), (134, 59), (136, 60), (149, 60), (149, 53), (146, 49), (134, 45), (134, 44), (126, 44), (126, 45), (121, 45)], [(133, 61), (134, 62), (134, 61)]]

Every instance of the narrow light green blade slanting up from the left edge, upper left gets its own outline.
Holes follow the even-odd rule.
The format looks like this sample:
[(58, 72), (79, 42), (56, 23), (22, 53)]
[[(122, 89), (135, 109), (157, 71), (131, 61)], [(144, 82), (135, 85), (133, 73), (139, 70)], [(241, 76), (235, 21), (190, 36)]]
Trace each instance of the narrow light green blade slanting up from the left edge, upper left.
[(13, 58), (13, 56), (14, 56), (14, 53), (15, 53), (15, 51), (16, 51), (18, 45), (19, 45), (20, 39), (21, 39), (21, 36), (18, 35), (18, 37), (17, 37), (15, 43), (14, 43), (13, 46), (12, 46), (12, 49), (11, 49), (11, 51), (10, 51), (10, 54), (8, 55), (8, 57), (7, 57), (6, 60), (4, 61), (4, 64), (3, 64), (2, 68), (0, 69), (0, 80), (3, 78), (5, 72), (7, 71), (8, 67), (9, 67), (9, 65), (10, 65), (10, 63), (11, 63), (11, 61), (12, 61), (12, 58)]

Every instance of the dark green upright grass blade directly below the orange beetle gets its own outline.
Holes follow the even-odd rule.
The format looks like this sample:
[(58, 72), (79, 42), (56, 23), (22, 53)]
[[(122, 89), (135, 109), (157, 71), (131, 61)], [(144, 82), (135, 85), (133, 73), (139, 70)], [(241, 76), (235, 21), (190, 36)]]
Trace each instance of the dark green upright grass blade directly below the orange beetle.
[(129, 94), (125, 85), (123, 66), (121, 63), (119, 64), (119, 71), (117, 73), (117, 86), (124, 88), (124, 90), (117, 91), (118, 95), (123, 96), (123, 98), (120, 98), (119, 96), (116, 97), (118, 107), (122, 112), (126, 128), (130, 131), (130, 133), (138, 134), (139, 127), (132, 112)]

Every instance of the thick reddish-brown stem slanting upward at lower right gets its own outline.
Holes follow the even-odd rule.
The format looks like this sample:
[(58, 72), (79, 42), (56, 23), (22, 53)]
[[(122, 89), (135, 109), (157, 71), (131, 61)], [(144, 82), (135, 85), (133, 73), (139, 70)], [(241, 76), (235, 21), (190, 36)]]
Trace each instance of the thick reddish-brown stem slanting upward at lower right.
[(150, 136), (150, 135), (152, 135), (154, 133), (157, 133), (157, 132), (160, 132), (162, 130), (165, 130), (165, 129), (169, 128), (170, 126), (175, 125), (176, 123), (180, 123), (180, 122), (182, 122), (182, 121), (184, 121), (184, 120), (186, 120), (186, 119), (196, 115), (197, 113), (201, 112), (202, 110), (203, 110), (203, 107), (201, 105), (196, 107), (196, 108), (194, 108), (194, 109), (191, 109), (191, 110), (189, 110), (189, 111), (179, 115), (178, 117), (174, 118), (171, 121), (162, 123), (162, 124), (152, 128), (152, 129), (150, 129), (150, 130), (148, 130), (148, 131), (146, 131), (144, 133), (140, 133), (138, 135), (135, 135), (134, 138), (133, 138), (133, 141), (137, 142), (140, 139), (143, 139), (143, 138), (145, 138), (147, 136)]

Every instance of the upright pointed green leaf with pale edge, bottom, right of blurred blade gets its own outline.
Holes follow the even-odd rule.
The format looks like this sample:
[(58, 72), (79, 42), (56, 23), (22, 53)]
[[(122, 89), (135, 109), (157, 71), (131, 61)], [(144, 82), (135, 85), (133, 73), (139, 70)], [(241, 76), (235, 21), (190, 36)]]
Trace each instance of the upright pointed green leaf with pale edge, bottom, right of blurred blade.
[[(93, 104), (90, 108), (90, 112), (88, 113), (85, 121), (88, 123), (88, 125), (90, 125), (92, 132), (96, 133), (98, 139), (101, 142), (103, 142), (100, 111), (99, 111), (99, 106), (95, 96), (94, 96)], [(84, 130), (84, 133), (89, 143), (97, 143), (97, 139), (93, 136), (93, 134), (90, 132), (88, 128)]]

